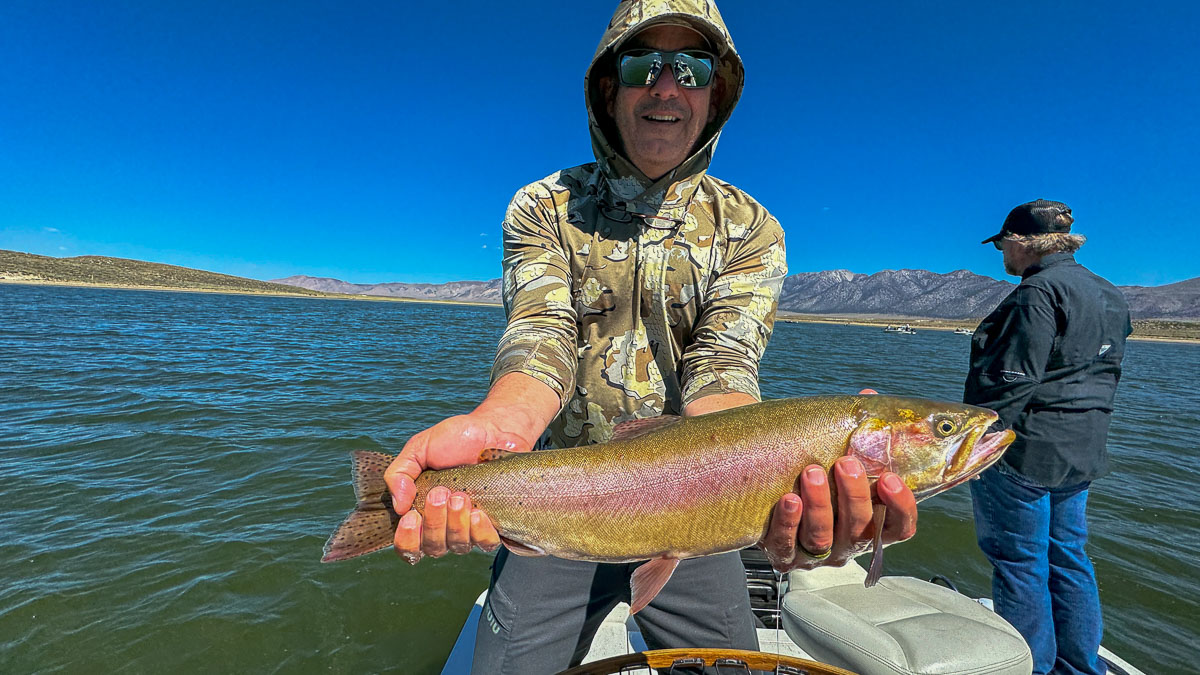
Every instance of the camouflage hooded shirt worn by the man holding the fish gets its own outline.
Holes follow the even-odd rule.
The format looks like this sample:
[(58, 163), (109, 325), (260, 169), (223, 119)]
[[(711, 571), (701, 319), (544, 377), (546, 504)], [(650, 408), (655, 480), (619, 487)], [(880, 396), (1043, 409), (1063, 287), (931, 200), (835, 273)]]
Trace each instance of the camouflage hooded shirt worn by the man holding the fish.
[[(631, 35), (684, 24), (719, 53), (716, 115), (658, 180), (619, 151), (600, 78)], [(670, 77), (670, 74), (665, 74)], [(625, 0), (584, 77), (595, 162), (521, 189), (504, 219), (504, 307), (492, 381), (558, 393), (551, 447), (607, 441), (617, 424), (679, 414), (703, 396), (756, 399), (787, 263), (767, 209), (706, 173), (742, 95), (742, 59), (708, 0)]]

